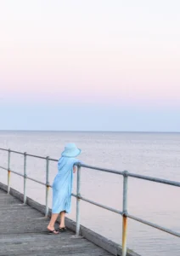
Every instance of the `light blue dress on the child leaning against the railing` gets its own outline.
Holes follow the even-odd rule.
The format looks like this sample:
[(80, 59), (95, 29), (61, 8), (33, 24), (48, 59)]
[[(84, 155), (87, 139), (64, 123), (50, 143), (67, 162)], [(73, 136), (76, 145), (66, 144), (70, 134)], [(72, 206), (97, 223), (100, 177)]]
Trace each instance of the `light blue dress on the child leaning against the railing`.
[(58, 174), (53, 180), (52, 213), (71, 210), (71, 192), (73, 184), (73, 166), (80, 162), (76, 158), (61, 157), (58, 162)]

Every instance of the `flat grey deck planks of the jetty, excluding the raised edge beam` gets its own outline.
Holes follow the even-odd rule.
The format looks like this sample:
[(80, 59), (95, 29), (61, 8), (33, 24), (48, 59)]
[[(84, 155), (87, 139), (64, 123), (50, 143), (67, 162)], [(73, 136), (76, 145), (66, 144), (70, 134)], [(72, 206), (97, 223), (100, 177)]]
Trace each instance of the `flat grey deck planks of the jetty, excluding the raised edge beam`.
[(70, 230), (48, 235), (47, 225), (48, 218), (41, 212), (0, 189), (1, 256), (112, 255), (83, 237), (76, 238)]

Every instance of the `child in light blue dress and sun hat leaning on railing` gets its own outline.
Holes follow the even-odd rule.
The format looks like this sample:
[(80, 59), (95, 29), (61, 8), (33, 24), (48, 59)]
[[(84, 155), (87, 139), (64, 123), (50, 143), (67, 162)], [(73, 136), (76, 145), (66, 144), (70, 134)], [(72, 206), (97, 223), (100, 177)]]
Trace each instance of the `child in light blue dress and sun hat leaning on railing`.
[[(73, 172), (76, 172), (75, 164), (80, 162), (76, 156), (82, 150), (76, 148), (74, 143), (68, 143), (61, 154), (58, 162), (58, 174), (53, 180), (53, 207), (52, 216), (48, 224), (48, 234), (58, 235), (65, 231), (65, 213), (71, 210), (71, 191), (73, 183)], [(60, 214), (59, 230), (55, 230), (54, 224)]]

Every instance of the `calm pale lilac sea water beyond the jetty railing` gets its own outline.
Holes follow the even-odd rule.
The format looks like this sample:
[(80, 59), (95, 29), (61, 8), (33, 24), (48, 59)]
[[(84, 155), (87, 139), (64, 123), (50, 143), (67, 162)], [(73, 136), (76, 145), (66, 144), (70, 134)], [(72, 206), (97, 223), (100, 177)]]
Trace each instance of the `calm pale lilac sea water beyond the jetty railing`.
[[(59, 158), (65, 143), (82, 148), (79, 159), (93, 166), (180, 181), (180, 133), (0, 131), (0, 148)], [(57, 172), (50, 164), (50, 181)], [(0, 166), (7, 166), (7, 153), (0, 151)], [(23, 172), (23, 156), (12, 154), (11, 169)], [(45, 181), (45, 161), (27, 159), (27, 174)], [(7, 173), (0, 170), (7, 183)], [(23, 191), (23, 179), (12, 175), (12, 187)], [(45, 203), (45, 188), (28, 181), (28, 196)], [(180, 232), (180, 189), (164, 184), (129, 179), (128, 212)], [(76, 190), (76, 176), (74, 191)], [(82, 169), (82, 195), (121, 210), (122, 177)], [(76, 218), (73, 198), (69, 218)], [(51, 201), (50, 205), (51, 207)], [(121, 216), (86, 202), (81, 203), (82, 224), (121, 243)], [(179, 256), (180, 239), (129, 220), (128, 247), (143, 256)]]

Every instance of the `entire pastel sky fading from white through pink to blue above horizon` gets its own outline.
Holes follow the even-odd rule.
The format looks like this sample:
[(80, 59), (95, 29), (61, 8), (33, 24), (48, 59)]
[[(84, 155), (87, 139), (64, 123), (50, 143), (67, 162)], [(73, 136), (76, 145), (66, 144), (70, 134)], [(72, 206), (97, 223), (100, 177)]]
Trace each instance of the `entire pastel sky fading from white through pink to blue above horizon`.
[(0, 0), (0, 130), (180, 131), (179, 0)]

